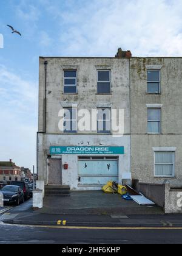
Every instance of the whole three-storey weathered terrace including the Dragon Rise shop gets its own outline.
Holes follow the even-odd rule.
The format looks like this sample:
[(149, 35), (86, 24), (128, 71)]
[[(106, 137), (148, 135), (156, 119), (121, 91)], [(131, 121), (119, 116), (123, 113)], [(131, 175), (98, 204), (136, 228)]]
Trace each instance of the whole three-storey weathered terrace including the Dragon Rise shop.
[(39, 180), (181, 187), (181, 78), (180, 57), (39, 57)]

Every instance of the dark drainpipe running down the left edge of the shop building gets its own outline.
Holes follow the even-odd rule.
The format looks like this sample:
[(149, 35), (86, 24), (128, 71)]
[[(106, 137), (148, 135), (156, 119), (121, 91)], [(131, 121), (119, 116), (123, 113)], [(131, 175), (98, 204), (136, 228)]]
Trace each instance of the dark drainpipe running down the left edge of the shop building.
[(47, 125), (47, 60), (44, 62), (44, 71), (45, 71), (45, 80), (44, 80), (44, 107), (43, 107), (43, 115), (44, 115), (44, 127), (43, 132), (36, 133), (36, 174), (38, 176), (38, 134), (45, 134), (46, 133), (46, 125)]

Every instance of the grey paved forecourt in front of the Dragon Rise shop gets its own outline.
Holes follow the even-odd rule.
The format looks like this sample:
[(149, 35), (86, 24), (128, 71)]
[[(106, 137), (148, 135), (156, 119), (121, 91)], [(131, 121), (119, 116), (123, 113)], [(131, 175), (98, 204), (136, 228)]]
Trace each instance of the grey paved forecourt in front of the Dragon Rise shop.
[(120, 194), (72, 191), (70, 197), (45, 197), (38, 213), (58, 215), (163, 215), (163, 209), (126, 201)]

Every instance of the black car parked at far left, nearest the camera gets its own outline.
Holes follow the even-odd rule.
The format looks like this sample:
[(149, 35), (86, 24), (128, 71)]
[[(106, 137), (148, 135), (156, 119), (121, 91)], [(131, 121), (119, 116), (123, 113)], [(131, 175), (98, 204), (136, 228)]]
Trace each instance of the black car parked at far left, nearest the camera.
[(24, 202), (24, 193), (19, 186), (7, 185), (2, 188), (1, 193), (3, 194), (2, 201), (4, 203), (19, 205)]

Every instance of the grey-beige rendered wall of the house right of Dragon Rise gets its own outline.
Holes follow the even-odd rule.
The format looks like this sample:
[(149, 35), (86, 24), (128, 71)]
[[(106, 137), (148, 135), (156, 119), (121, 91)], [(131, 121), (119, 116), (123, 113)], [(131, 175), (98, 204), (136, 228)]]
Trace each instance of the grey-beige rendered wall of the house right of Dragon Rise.
[[(147, 94), (146, 65), (161, 65), (161, 93)], [(172, 185), (182, 181), (182, 59), (130, 59), (130, 129), (132, 178), (146, 183), (163, 183), (165, 178), (154, 177), (152, 148), (176, 147), (175, 177)], [(147, 134), (146, 104), (163, 104), (161, 134)], [(168, 179), (168, 178), (167, 178)]]

